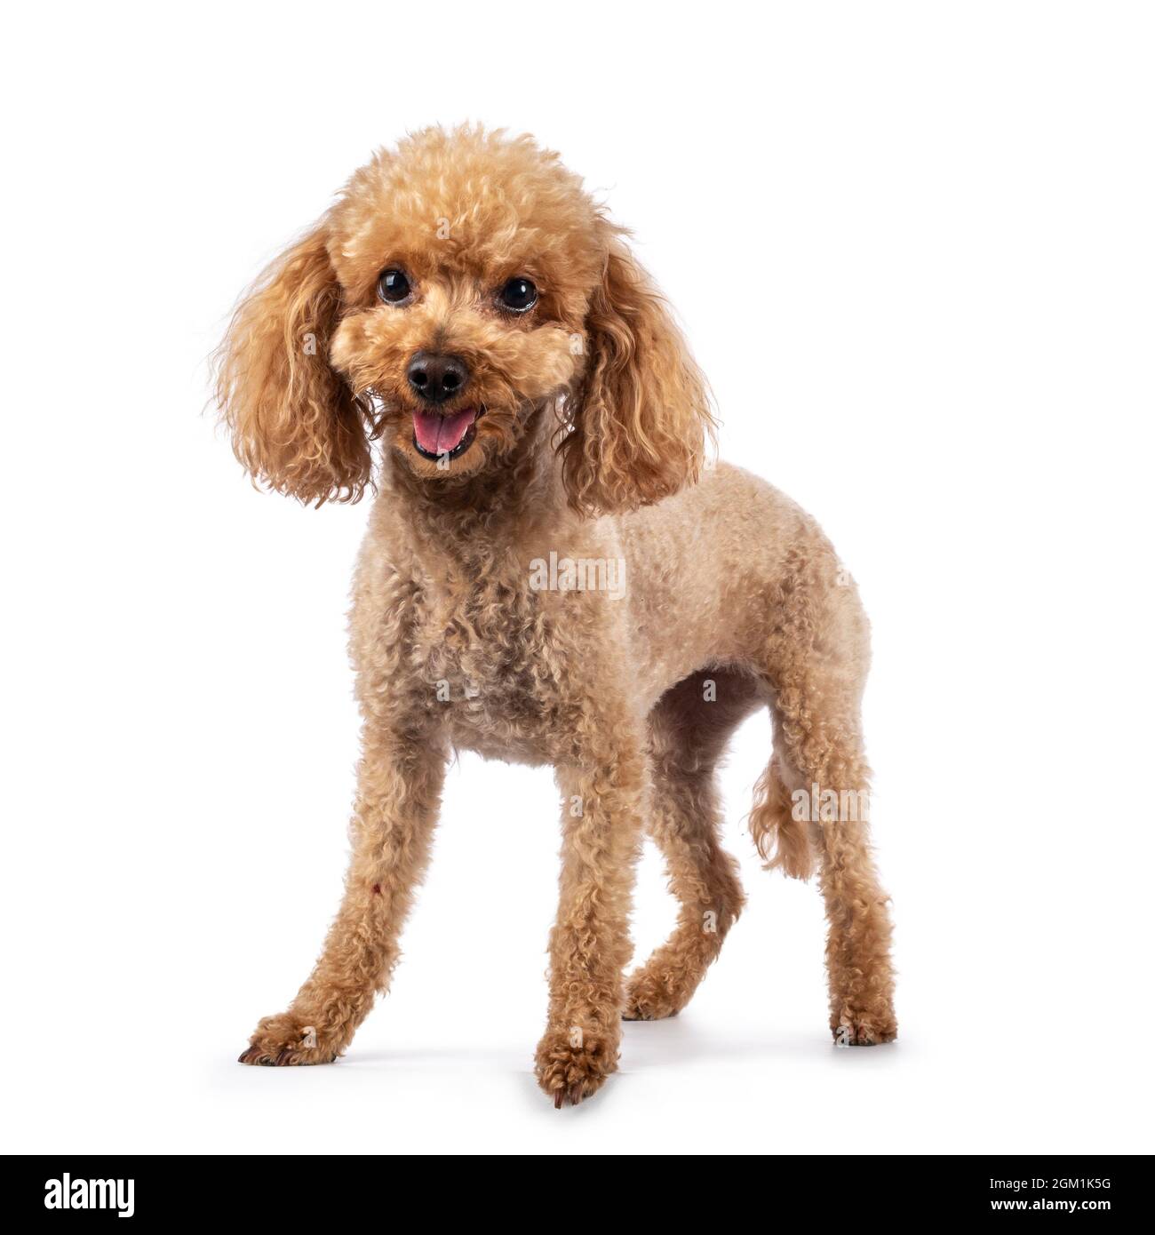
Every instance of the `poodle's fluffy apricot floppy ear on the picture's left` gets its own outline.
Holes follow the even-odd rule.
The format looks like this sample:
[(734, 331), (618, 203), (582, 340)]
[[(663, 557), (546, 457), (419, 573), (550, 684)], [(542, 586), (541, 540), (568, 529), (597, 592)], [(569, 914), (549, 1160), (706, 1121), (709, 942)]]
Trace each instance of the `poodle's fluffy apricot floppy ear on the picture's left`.
[(237, 458), (304, 503), (357, 501), (371, 480), (366, 410), (329, 363), (341, 285), (321, 224), (261, 275), (216, 356)]

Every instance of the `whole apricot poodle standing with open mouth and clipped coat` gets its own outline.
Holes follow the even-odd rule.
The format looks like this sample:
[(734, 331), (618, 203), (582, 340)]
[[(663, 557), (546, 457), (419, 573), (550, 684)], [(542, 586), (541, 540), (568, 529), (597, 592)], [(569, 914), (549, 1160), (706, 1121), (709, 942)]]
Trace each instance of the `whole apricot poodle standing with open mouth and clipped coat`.
[[(715, 767), (763, 706), (758, 852), (817, 868), (835, 1042), (896, 1035), (854, 580), (789, 499), (707, 458), (705, 383), (625, 236), (532, 138), (434, 127), (358, 170), (232, 317), (216, 396), (254, 482), (317, 505), (376, 494), (345, 894), (243, 1063), (346, 1050), (397, 965), (447, 761), (469, 750), (555, 768), (536, 1077), (557, 1107), (592, 1095), (623, 1019), (681, 1011), (742, 908)], [(679, 913), (624, 977), (644, 830)]]

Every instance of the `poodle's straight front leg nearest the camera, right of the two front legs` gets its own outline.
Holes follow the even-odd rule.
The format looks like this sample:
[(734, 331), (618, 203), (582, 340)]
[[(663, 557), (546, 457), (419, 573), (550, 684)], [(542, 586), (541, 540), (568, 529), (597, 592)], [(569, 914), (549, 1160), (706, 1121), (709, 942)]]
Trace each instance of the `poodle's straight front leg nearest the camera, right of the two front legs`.
[(641, 742), (620, 739), (597, 763), (557, 769), (562, 873), (550, 935), (550, 1013), (537, 1045), (541, 1088), (561, 1107), (595, 1093), (618, 1067), (621, 972), (641, 837)]

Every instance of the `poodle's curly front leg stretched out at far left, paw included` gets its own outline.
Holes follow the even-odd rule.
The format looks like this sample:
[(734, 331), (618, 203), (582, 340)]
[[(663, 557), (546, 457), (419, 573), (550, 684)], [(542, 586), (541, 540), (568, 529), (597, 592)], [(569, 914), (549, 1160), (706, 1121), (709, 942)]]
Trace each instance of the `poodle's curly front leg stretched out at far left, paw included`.
[(242, 1063), (331, 1063), (348, 1046), (397, 965), (443, 774), (443, 752), (413, 739), (369, 737), (341, 909), (313, 974), (288, 1011), (257, 1025)]

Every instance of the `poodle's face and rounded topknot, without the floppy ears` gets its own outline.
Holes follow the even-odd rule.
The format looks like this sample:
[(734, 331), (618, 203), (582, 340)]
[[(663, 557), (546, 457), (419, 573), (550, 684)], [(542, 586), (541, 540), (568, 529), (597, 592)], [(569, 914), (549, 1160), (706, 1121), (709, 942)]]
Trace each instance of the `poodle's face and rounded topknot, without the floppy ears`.
[(493, 466), (581, 372), (609, 237), (527, 141), (434, 132), (359, 172), (334, 212), (345, 312), (330, 358), (419, 475)]

